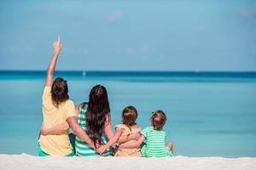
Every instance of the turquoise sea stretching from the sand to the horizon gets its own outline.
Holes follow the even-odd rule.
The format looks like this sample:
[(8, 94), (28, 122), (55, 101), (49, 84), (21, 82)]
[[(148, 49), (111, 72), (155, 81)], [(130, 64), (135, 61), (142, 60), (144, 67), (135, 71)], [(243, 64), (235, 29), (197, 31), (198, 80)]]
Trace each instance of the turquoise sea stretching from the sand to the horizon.
[[(59, 71), (76, 105), (108, 89), (112, 126), (134, 105), (149, 126), (166, 112), (167, 140), (182, 156), (256, 156), (256, 72)], [(0, 154), (36, 155), (45, 71), (0, 71)]]

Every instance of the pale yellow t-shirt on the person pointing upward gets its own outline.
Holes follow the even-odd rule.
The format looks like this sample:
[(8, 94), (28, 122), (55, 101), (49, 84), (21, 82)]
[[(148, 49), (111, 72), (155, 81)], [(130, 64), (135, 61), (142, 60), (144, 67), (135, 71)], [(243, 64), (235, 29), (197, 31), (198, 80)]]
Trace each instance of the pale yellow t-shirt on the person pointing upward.
[[(44, 127), (50, 128), (66, 122), (67, 117), (76, 116), (73, 101), (67, 99), (58, 108), (52, 103), (51, 87), (45, 86), (43, 94)], [(67, 156), (72, 153), (72, 145), (68, 139), (68, 130), (55, 135), (40, 135), (41, 149), (52, 156)]]

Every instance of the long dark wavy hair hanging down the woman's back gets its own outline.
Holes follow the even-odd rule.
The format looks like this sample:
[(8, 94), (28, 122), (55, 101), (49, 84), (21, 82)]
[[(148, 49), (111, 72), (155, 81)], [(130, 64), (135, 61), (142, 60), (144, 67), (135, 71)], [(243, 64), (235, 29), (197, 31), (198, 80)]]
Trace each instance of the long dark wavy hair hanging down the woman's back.
[(91, 88), (89, 98), (86, 114), (88, 135), (95, 145), (102, 144), (106, 115), (110, 113), (108, 92), (102, 85), (96, 85)]

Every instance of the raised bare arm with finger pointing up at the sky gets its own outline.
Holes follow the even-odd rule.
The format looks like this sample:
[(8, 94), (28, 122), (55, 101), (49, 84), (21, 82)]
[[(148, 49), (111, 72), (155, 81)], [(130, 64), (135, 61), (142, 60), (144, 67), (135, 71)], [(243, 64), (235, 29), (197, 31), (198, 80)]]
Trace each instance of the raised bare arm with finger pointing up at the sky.
[(55, 73), (55, 65), (58, 59), (58, 56), (61, 52), (61, 37), (58, 37), (58, 41), (53, 43), (54, 54), (50, 60), (48, 69), (47, 69), (47, 76), (44, 82), (44, 86), (51, 86), (53, 83), (53, 76)]

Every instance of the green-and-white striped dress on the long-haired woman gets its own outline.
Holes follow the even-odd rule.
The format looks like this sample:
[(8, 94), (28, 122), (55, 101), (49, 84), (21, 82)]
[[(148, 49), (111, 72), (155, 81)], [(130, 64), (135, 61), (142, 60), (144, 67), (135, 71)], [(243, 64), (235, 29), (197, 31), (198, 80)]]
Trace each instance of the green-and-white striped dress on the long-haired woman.
[[(79, 126), (84, 129), (84, 131), (87, 131), (86, 129), (86, 112), (87, 112), (88, 105), (85, 104), (79, 109)], [(86, 132), (87, 133), (87, 132)], [(107, 144), (108, 138), (106, 137), (105, 133), (102, 135), (102, 143)], [(99, 153), (97, 153), (93, 148), (91, 148), (86, 142), (79, 139), (78, 136), (76, 136), (75, 141), (75, 148), (76, 148), (76, 156), (99, 156)], [(106, 153), (102, 154), (102, 156), (112, 156), (112, 150), (107, 150)]]

